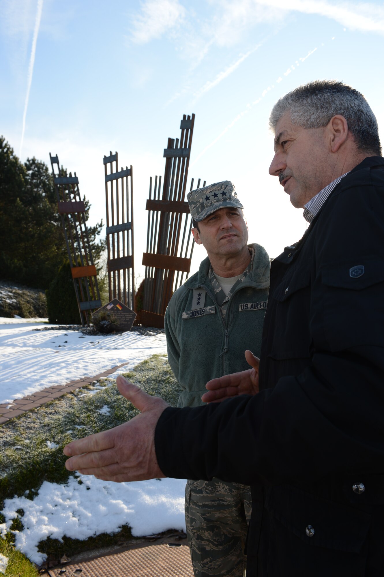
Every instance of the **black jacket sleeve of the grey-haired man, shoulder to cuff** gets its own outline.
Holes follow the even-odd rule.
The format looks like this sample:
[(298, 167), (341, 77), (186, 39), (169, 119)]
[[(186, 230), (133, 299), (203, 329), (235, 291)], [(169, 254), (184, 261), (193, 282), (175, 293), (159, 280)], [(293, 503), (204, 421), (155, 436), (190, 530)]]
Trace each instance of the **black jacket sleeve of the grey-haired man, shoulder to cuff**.
[[(164, 474), (280, 484), (384, 473), (382, 176), (356, 175), (317, 226), (310, 366), (254, 397), (165, 410), (155, 434)], [(353, 278), (360, 265), (364, 274)]]

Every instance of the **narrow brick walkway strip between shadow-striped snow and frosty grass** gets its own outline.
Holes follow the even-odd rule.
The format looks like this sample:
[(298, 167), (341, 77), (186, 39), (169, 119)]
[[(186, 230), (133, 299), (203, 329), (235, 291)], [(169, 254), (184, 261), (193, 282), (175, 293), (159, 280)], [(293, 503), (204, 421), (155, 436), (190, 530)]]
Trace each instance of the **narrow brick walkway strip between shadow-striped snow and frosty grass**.
[(77, 381), (69, 381), (69, 383), (66, 383), (65, 385), (47, 387), (42, 389), (42, 391), (33, 393), (33, 395), (27, 395), (22, 399), (16, 399), (12, 403), (2, 403), (0, 404), (0, 425), (6, 423), (13, 417), (22, 415), (22, 413), (29, 411), (29, 409), (37, 409), (37, 407), (41, 407), (42, 404), (49, 403), (51, 400), (58, 399), (59, 397), (81, 387), (86, 387), (86, 385), (93, 383), (93, 381), (103, 379), (103, 377), (109, 377), (110, 374), (121, 368), (121, 366), (127, 364), (127, 362), (124, 362), (122, 365), (116, 365), (112, 367), (112, 369), (104, 371), (104, 373), (96, 374), (95, 377), (85, 377), (84, 379), (78, 379)]

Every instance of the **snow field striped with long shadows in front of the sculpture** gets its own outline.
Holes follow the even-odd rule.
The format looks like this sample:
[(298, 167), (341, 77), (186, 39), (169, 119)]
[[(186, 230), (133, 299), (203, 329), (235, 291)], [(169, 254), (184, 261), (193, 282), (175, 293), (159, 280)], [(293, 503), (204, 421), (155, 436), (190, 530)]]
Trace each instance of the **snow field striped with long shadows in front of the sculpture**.
[[(33, 331), (50, 325), (27, 319), (0, 320), (0, 403), (31, 395), (52, 385), (93, 377), (112, 366), (127, 372), (155, 353), (166, 353), (164, 333), (153, 336), (131, 331), (86, 336), (81, 332)], [(18, 322), (18, 321), (23, 321)], [(32, 319), (28, 319), (32, 321)]]

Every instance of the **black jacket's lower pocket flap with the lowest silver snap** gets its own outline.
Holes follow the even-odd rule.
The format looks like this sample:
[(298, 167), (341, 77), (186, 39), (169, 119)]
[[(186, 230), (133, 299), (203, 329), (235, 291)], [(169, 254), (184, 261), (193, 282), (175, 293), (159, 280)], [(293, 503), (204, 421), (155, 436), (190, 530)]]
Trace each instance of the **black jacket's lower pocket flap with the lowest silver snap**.
[(349, 553), (360, 553), (371, 523), (359, 509), (287, 485), (272, 487), (265, 507), (308, 546)]

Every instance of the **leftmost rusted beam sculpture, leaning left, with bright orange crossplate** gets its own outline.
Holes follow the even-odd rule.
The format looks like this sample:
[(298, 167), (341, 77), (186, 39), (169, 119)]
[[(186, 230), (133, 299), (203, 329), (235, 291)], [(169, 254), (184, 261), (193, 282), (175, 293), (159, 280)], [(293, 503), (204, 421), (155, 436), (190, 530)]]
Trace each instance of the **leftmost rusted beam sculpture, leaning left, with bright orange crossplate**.
[[(78, 177), (62, 174), (58, 156), (50, 153), (52, 174), (71, 267), (81, 324), (89, 325), (89, 313), (101, 306), (97, 271), (85, 222), (85, 206), (80, 197)], [(57, 172), (55, 173), (55, 166)]]

